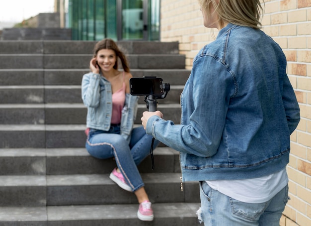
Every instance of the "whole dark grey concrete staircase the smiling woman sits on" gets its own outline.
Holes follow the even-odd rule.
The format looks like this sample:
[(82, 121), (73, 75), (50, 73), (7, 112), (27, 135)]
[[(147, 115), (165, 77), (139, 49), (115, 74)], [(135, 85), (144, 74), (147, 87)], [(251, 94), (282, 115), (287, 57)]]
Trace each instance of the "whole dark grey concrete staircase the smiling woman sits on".
[[(180, 191), (178, 152), (163, 144), (139, 166), (155, 219), (137, 219), (134, 194), (109, 179), (113, 159), (84, 148), (80, 94), (93, 41), (0, 41), (0, 226), (196, 226), (197, 182)], [(170, 84), (158, 110), (180, 122), (179, 97), (190, 72), (178, 43), (118, 42), (134, 77)], [(141, 97), (136, 125), (146, 111)]]

